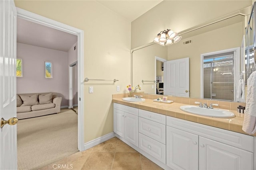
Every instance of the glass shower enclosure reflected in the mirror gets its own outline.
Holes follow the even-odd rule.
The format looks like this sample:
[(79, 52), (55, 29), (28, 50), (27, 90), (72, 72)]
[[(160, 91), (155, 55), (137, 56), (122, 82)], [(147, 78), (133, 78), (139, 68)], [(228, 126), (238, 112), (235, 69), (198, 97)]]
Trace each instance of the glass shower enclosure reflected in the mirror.
[(204, 98), (234, 100), (234, 53), (204, 56)]

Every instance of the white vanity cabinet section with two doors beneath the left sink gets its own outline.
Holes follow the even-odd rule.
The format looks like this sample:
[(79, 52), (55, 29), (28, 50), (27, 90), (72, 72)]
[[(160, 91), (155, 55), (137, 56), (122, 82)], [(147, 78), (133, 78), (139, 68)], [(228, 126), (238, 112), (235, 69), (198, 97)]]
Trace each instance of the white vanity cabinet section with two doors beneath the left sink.
[(114, 132), (138, 147), (138, 109), (114, 103)]

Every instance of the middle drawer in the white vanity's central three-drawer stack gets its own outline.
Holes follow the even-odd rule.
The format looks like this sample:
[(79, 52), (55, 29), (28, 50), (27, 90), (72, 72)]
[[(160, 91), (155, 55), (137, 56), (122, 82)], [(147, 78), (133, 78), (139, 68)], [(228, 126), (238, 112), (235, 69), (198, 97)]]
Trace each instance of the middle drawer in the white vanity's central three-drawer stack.
[(139, 117), (139, 132), (163, 144), (166, 143), (165, 129), (163, 124)]

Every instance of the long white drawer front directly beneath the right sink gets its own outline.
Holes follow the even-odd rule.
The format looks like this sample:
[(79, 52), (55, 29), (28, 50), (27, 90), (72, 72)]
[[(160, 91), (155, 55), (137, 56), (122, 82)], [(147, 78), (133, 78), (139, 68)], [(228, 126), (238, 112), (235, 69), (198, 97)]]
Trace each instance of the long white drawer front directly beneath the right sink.
[(254, 138), (250, 135), (232, 132), (217, 127), (202, 125), (175, 117), (166, 117), (166, 124), (183, 131), (194, 133), (201, 137), (206, 137), (233, 147), (254, 152)]

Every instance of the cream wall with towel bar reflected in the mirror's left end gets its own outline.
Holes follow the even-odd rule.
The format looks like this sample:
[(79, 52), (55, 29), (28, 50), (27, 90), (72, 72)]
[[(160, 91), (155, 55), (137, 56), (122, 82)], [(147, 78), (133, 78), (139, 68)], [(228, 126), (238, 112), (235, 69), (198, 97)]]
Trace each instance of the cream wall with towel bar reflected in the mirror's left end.
[(142, 85), (143, 92), (155, 94), (155, 88), (152, 89), (154, 82), (144, 82), (141, 80), (153, 81), (155, 77), (155, 57), (160, 57), (167, 60), (167, 48), (158, 44), (150, 45), (139, 49), (132, 53), (132, 85)]

